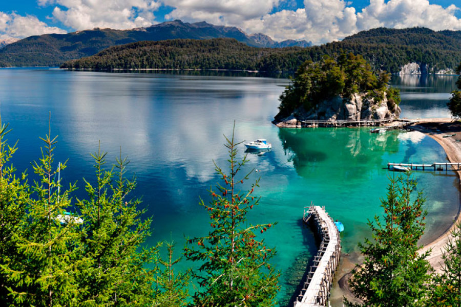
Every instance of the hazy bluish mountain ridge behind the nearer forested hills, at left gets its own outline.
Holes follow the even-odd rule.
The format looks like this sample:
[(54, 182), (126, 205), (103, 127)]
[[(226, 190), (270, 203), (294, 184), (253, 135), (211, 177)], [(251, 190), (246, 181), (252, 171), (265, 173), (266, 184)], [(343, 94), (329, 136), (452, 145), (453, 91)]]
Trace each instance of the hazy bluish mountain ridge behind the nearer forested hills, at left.
[(278, 48), (282, 46), (308, 46), (305, 40), (277, 42), (264, 34), (248, 35), (236, 27), (214, 26), (201, 23), (166, 21), (148, 28), (130, 30), (93, 29), (68, 34), (30, 36), (7, 45), (0, 50), (0, 66), (57, 66), (70, 59), (90, 56), (111, 46), (142, 40), (176, 38), (210, 39), (228, 37), (253, 47)]

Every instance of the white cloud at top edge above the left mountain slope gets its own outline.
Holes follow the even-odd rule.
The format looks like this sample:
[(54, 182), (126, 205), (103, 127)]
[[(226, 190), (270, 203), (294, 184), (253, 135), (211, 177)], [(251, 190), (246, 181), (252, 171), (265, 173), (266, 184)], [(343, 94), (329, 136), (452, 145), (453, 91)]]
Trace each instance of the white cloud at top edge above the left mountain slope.
[(38, 0), (55, 5), (53, 17), (75, 30), (92, 28), (130, 29), (155, 24), (155, 0)]

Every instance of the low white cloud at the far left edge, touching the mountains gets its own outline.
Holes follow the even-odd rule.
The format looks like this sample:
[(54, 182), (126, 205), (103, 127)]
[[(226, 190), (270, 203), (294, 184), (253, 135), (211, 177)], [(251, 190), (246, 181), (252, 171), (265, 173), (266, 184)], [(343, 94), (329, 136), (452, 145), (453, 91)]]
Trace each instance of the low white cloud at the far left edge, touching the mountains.
[(47, 33), (67, 33), (57, 28), (49, 27), (43, 21), (38, 20), (35, 16), (21, 16), (16, 13), (7, 14), (0, 12), (0, 38), (9, 37), (24, 38), (32, 35), (41, 35)]

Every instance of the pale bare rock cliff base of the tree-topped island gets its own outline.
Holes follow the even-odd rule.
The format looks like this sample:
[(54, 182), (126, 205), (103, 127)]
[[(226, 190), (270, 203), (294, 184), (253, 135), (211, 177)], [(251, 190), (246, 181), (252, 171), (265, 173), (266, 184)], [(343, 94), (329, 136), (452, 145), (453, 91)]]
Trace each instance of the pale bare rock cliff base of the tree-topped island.
[[(279, 127), (303, 127), (309, 126), (313, 121), (326, 121), (325, 126), (337, 126), (337, 121), (350, 121), (351, 125), (359, 121), (370, 121), (369, 125), (376, 120), (393, 120), (399, 118), (401, 109), (395, 103), (388, 101), (386, 96), (380, 102), (367, 94), (354, 94), (350, 99), (336, 96), (320, 102), (316, 108), (306, 111), (304, 107), (295, 109), (288, 116), (280, 113), (273, 123)], [(306, 123), (304, 123), (306, 122)], [(364, 123), (362, 122), (361, 125)]]

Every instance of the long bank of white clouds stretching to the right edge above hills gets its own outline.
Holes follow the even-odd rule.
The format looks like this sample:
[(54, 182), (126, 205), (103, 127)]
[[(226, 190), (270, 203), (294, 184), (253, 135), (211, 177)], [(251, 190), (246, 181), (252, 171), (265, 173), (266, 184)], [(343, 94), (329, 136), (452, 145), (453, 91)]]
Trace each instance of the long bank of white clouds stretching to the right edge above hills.
[(376, 27), (461, 29), (455, 5), (443, 8), (428, 0), (370, 0), (356, 12), (346, 0), (304, 0), (304, 8), (271, 13), (289, 0), (162, 0), (175, 9), (166, 19), (237, 26), (247, 33), (262, 32), (276, 40), (306, 39), (324, 43)]

